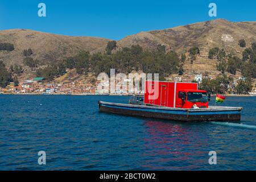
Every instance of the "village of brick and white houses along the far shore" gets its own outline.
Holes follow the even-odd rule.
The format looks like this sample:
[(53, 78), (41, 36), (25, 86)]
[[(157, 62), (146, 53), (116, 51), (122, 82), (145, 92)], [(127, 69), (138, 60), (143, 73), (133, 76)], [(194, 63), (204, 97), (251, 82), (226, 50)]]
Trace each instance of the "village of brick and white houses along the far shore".
[[(195, 64), (197, 64), (196, 61)], [(199, 63), (198, 63), (199, 64)], [(203, 78), (216, 79), (218, 75), (209, 75), (209, 73), (197, 73), (195, 74), (184, 74), (179, 76), (177, 74), (172, 75), (167, 78), (168, 81), (176, 81), (176, 82), (198, 82), (201, 84)], [(237, 85), (238, 80), (245, 80), (243, 76), (234, 76), (229, 75), (229, 77), (234, 78), (233, 82), (230, 82), (228, 85), (228, 93), (234, 94), (233, 90)], [(129, 85), (129, 79), (127, 79), (127, 85)], [(116, 82), (117, 84), (117, 82)], [(101, 89), (98, 90), (98, 86), (102, 88), (109, 88), (109, 81), (101, 82), (96, 81), (94, 83), (86, 82), (85, 80), (75, 80), (72, 82), (59, 82), (59, 81), (51, 81), (48, 82), (44, 77), (31, 77), (27, 80), (22, 80), (19, 82), (18, 86), (14, 86), (14, 82), (10, 82), (6, 88), (1, 88), (0, 93), (8, 93), (8, 94), (81, 94), (81, 95), (93, 95), (93, 94), (117, 94), (117, 95), (127, 95), (127, 94), (141, 94), (143, 90), (133, 90), (133, 92), (128, 92), (127, 90), (116, 89), (114, 93), (110, 93), (109, 89)], [(250, 94), (256, 94), (256, 84), (254, 83), (253, 89)]]

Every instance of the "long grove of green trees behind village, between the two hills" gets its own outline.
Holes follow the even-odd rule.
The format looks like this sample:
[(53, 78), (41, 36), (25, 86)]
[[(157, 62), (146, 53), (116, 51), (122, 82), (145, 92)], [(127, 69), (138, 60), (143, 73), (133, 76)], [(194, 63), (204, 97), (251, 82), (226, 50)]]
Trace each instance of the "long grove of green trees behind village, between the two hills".
[[(105, 72), (110, 75), (110, 69), (114, 68), (117, 73), (131, 73), (132, 71), (143, 71), (144, 73), (159, 73), (159, 77), (166, 77), (173, 73), (183, 74), (183, 64), (180, 56), (174, 52), (143, 51), (139, 45), (131, 48), (123, 48), (113, 54), (81, 52), (76, 56), (68, 57), (53, 67), (39, 68), (36, 71), (38, 77), (53, 80), (65, 74), (67, 68), (76, 69), (81, 75), (88, 72), (95, 76)], [(29, 59), (30, 57), (26, 57)]]

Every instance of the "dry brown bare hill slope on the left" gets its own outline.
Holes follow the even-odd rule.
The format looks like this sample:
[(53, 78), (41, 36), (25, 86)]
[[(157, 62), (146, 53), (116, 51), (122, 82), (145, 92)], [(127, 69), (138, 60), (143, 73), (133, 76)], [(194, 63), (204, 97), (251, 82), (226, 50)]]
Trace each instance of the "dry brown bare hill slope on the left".
[(44, 32), (13, 29), (0, 31), (0, 43), (14, 44), (14, 51), (0, 51), (0, 60), (7, 65), (21, 64), (22, 51), (31, 48), (32, 57), (51, 62), (74, 56), (79, 51), (93, 51), (109, 42), (109, 39), (86, 36), (64, 36)]

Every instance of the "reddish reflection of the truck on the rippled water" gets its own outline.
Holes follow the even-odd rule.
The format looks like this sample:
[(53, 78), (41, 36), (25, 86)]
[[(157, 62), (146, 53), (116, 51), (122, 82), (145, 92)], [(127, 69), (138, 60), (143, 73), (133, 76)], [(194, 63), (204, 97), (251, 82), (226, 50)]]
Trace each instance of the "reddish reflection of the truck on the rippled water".
[[(205, 156), (204, 151), (195, 150), (208, 143), (207, 131), (194, 133), (188, 125), (175, 122), (146, 121), (149, 135), (145, 139), (147, 150), (155, 156), (147, 163), (166, 163), (158, 169), (193, 169), (200, 167), (199, 156)], [(149, 155), (147, 152), (144, 155)], [(204, 162), (205, 163), (205, 162)], [(182, 164), (182, 165), (180, 165)], [(154, 169), (154, 166), (143, 166)]]

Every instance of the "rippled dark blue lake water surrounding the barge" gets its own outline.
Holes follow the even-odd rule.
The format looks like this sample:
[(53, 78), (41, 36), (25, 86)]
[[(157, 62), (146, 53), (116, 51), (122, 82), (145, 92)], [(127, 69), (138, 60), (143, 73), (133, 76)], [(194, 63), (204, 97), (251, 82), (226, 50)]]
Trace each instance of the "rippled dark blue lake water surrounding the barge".
[[(226, 98), (224, 105), (244, 107), (241, 123), (99, 113), (98, 100), (129, 97), (0, 95), (0, 169), (256, 170), (256, 97)], [(217, 165), (211, 166), (212, 150)]]

